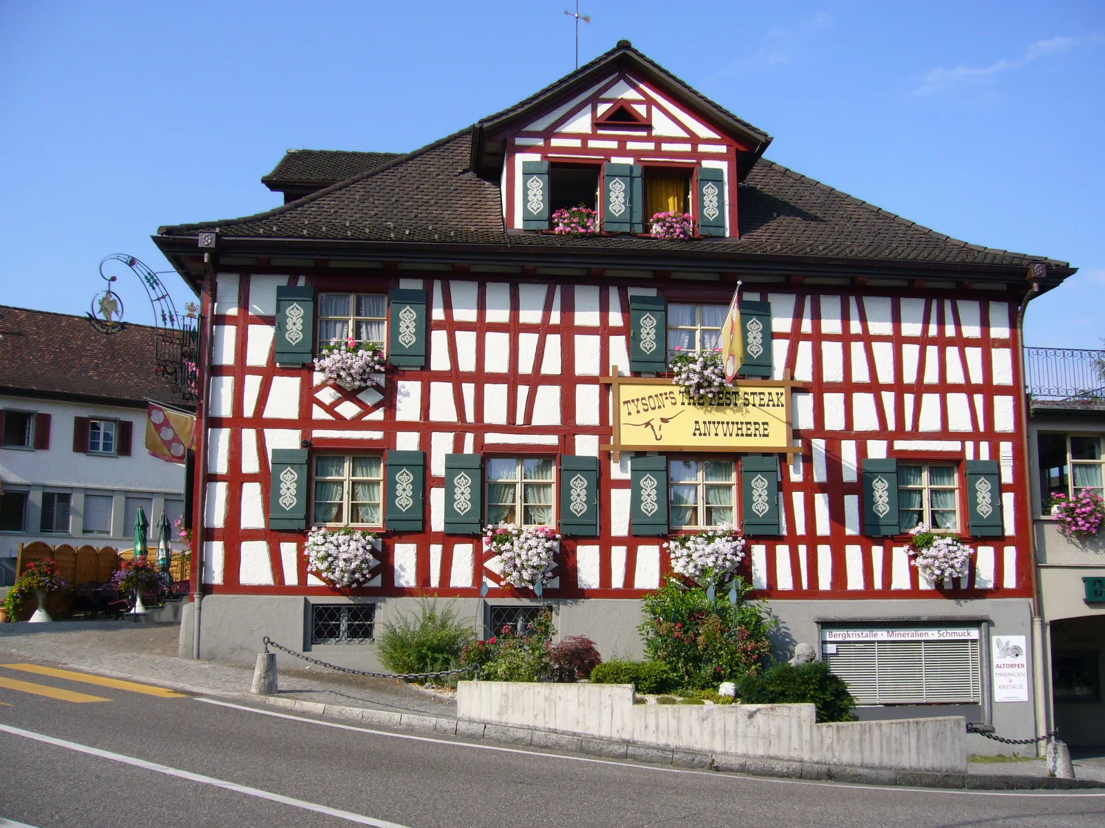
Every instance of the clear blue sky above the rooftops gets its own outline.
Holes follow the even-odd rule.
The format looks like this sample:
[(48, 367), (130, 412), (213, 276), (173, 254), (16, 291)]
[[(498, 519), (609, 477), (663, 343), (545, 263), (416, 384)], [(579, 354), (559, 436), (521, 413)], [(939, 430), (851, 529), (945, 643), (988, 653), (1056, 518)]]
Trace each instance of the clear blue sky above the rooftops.
[[(573, 67), (571, 0), (0, 4), (0, 302), (83, 312), (158, 225), (278, 203), (287, 148), (410, 150)], [(768, 157), (943, 233), (1070, 261), (1030, 344), (1105, 337), (1105, 3), (589, 0), (775, 136)], [(175, 278), (175, 277), (170, 277)], [(179, 282), (170, 283), (186, 299)], [(128, 317), (148, 321), (137, 282)]]

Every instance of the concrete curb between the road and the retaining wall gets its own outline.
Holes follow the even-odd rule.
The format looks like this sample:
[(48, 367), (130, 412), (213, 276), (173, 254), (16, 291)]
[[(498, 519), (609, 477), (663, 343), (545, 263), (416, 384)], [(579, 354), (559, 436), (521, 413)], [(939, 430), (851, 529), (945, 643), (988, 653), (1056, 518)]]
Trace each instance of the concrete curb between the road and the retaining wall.
[(1105, 788), (1105, 783), (1086, 779), (1059, 779), (1041, 776), (944, 774), (919, 771), (895, 771), (877, 767), (848, 767), (812, 762), (754, 758), (728, 754), (695, 753), (669, 747), (615, 742), (570, 733), (512, 728), (504, 724), (484, 724), (461, 719), (440, 719), (417, 713), (392, 713), (387, 710), (350, 708), (343, 704), (322, 704), (301, 699), (281, 699), (266, 696), (270, 707), (294, 710), (297, 713), (341, 719), (361, 724), (398, 728), (418, 733), (435, 733), (463, 739), (478, 739), (498, 744), (520, 745), (555, 751), (582, 753), (603, 758), (621, 758), (652, 765), (671, 765), (702, 771), (768, 776), (790, 779), (815, 779), (856, 785), (902, 785), (924, 788), (965, 788), (968, 790), (1067, 790), (1074, 788)]

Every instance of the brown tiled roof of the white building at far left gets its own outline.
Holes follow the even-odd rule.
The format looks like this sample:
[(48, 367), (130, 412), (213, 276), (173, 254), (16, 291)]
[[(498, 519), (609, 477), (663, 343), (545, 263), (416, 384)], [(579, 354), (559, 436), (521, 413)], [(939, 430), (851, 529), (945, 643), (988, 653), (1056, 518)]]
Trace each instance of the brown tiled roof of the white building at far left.
[(128, 323), (108, 336), (83, 316), (0, 305), (0, 393), (168, 402), (168, 385), (154, 373), (155, 330)]

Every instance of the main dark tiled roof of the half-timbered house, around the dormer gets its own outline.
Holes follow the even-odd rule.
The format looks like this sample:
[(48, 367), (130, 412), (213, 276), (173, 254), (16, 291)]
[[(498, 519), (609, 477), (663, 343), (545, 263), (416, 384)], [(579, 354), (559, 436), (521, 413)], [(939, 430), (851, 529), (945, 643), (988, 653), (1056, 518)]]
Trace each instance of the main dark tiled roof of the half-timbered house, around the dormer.
[(159, 232), (171, 236), (218, 227), (224, 238), (439, 242), (580, 253), (709, 251), (961, 266), (1049, 261), (1066, 266), (951, 238), (766, 159), (756, 162), (739, 187), (739, 238), (667, 242), (507, 233), (497, 180), (470, 171), (472, 140), (473, 130), (465, 129), (275, 210)]

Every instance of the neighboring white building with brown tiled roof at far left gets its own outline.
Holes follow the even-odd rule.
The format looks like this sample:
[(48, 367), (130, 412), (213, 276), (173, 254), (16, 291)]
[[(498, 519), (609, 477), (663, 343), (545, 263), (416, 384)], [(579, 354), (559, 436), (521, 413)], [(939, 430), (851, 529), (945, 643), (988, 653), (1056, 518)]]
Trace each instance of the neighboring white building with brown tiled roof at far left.
[(185, 466), (145, 446), (147, 397), (168, 400), (154, 336), (0, 306), (0, 584), (20, 544), (129, 549), (139, 506), (151, 541), (183, 512)]

